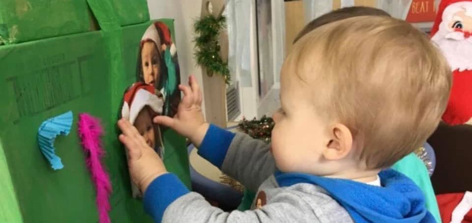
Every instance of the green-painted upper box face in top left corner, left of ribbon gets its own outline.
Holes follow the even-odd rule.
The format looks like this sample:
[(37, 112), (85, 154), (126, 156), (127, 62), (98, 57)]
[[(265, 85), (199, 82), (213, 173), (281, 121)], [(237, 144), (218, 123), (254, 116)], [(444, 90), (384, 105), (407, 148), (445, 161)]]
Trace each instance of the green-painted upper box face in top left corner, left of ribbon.
[(86, 0), (0, 0), (0, 45), (90, 30)]

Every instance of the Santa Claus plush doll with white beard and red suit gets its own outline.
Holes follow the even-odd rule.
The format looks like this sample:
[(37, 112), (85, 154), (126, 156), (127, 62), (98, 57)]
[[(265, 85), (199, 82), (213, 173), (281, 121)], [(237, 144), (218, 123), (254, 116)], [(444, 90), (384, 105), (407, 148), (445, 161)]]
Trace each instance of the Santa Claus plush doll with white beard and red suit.
[(442, 0), (431, 35), (453, 72), (442, 119), (450, 125), (472, 124), (472, 0)]

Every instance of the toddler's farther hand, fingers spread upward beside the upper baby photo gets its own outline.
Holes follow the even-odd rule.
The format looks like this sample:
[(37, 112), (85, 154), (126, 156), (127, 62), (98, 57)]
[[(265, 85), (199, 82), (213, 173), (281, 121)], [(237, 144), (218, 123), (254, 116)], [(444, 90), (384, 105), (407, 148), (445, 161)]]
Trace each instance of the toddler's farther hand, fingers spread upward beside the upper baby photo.
[(154, 122), (166, 125), (174, 129), (180, 135), (187, 137), (192, 143), (199, 147), (209, 124), (205, 123), (202, 112), (202, 91), (194, 76), (188, 78), (190, 86), (180, 84), (178, 88), (184, 96), (178, 105), (177, 114), (174, 118), (167, 116), (156, 116)]

